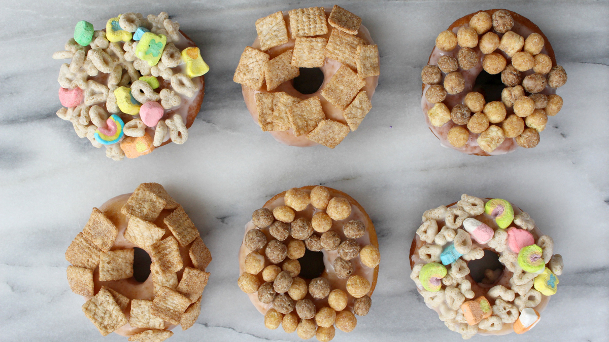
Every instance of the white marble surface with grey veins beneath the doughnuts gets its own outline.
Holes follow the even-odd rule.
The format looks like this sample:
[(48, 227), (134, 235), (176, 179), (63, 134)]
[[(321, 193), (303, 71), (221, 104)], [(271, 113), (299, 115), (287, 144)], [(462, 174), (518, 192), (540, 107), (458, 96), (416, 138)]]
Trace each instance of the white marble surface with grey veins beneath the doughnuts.
[[(64, 253), (93, 206), (156, 181), (191, 215), (213, 254), (197, 324), (170, 341), (300, 340), (267, 330), (242, 293), (237, 251), (251, 212), (294, 186), (324, 184), (356, 198), (375, 222), (379, 282), (368, 316), (336, 341), (450, 340), (409, 279), (407, 253), (424, 210), (463, 192), (502, 197), (529, 212), (565, 259), (557, 295), (525, 335), (494, 341), (607, 341), (609, 334), (609, 3), (607, 1), (353, 1), (379, 45), (373, 110), (334, 150), (293, 148), (262, 133), (232, 82), (254, 22), (317, 1), (0, 1), (0, 330), (2, 341), (102, 338), (69, 290)], [(478, 9), (504, 7), (543, 29), (569, 82), (565, 106), (532, 150), (467, 156), (442, 148), (420, 110), (420, 70), (438, 32)], [(55, 116), (51, 59), (86, 19), (166, 10), (211, 66), (202, 111), (185, 145), (114, 162)], [(474, 337), (482, 340), (484, 337)]]

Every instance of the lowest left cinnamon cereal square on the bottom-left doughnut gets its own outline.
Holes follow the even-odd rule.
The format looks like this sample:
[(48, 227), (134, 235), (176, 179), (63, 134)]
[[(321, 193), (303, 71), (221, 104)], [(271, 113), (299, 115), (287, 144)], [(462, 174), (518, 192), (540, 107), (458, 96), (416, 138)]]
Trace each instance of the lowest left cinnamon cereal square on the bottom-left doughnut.
[(127, 324), (127, 317), (114, 301), (110, 291), (105, 288), (86, 301), (82, 305), (82, 311), (104, 336)]

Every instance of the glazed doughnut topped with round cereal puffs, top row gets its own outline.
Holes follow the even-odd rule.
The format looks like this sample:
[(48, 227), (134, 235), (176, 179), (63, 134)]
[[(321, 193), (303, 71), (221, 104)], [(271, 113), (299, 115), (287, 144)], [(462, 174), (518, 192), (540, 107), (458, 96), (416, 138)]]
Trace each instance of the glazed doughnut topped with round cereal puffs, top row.
[(548, 116), (562, 108), (556, 88), (567, 74), (539, 27), (493, 9), (441, 32), (421, 80), (421, 108), (440, 144), (491, 156), (537, 146)]

